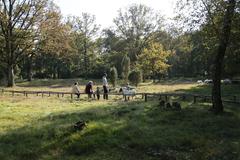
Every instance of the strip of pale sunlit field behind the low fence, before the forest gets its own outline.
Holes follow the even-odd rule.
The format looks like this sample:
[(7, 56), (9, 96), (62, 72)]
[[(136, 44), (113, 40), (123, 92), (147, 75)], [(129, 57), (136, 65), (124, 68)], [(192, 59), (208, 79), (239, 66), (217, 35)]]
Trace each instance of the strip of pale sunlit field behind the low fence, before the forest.
[[(56, 80), (34, 80), (32, 82), (18, 82), (13, 88), (14, 90), (25, 91), (60, 91), (69, 92), (74, 82), (78, 82), (80, 89), (83, 91), (87, 80), (82, 79), (56, 79)], [(97, 86), (102, 87), (101, 80), (93, 80), (94, 90)], [(120, 86), (123, 86), (120, 82)], [(137, 92), (149, 92), (149, 93), (165, 93), (165, 92), (184, 92), (184, 93), (196, 93), (203, 95), (211, 94), (211, 85), (199, 85), (195, 81), (165, 81), (161, 83), (153, 83), (152, 81), (141, 83), (137, 88)], [(222, 85), (222, 94), (224, 95), (236, 95), (240, 97), (240, 85)]]

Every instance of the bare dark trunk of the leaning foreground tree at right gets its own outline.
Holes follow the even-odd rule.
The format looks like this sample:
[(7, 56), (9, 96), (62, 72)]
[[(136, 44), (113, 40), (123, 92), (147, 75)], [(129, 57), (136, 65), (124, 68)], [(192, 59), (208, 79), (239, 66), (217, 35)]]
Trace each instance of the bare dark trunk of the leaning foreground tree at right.
[(223, 59), (229, 42), (231, 23), (234, 15), (236, 0), (229, 0), (227, 10), (224, 15), (222, 33), (220, 35), (218, 52), (213, 67), (213, 87), (212, 87), (212, 109), (214, 113), (223, 112), (223, 104), (221, 98), (221, 75)]

